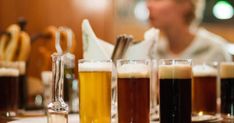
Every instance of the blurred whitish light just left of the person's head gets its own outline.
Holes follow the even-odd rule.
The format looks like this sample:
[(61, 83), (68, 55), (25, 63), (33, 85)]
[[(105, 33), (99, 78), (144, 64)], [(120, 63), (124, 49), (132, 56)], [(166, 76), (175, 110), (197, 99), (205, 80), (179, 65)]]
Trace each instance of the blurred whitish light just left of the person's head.
[(134, 9), (135, 17), (140, 21), (147, 21), (149, 18), (149, 11), (145, 1), (137, 2)]

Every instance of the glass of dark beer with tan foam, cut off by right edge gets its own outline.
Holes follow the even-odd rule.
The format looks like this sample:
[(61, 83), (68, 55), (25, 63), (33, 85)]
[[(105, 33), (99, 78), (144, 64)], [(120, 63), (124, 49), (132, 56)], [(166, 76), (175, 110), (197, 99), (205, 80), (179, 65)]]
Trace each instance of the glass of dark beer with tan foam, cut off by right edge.
[(220, 64), (221, 114), (234, 120), (234, 62)]

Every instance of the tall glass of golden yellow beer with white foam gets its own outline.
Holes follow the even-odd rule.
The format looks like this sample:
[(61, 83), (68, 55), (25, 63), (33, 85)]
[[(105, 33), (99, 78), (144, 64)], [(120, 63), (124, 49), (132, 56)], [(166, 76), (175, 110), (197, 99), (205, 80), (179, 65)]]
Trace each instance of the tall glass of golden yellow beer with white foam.
[(79, 60), (81, 123), (111, 122), (111, 60)]

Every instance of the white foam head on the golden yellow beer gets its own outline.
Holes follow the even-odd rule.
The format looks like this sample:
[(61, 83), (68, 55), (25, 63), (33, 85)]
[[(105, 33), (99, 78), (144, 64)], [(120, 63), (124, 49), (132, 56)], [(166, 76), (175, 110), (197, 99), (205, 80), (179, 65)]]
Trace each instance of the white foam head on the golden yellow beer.
[(79, 63), (79, 71), (112, 71), (112, 62)]

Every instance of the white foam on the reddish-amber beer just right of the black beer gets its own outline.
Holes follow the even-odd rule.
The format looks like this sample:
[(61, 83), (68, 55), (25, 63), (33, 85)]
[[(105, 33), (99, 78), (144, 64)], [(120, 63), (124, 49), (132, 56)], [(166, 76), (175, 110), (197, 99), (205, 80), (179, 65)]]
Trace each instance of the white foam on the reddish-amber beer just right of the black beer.
[(193, 66), (194, 76), (217, 76), (218, 72), (216, 68), (209, 65), (196, 65)]

